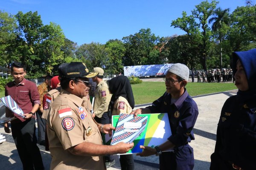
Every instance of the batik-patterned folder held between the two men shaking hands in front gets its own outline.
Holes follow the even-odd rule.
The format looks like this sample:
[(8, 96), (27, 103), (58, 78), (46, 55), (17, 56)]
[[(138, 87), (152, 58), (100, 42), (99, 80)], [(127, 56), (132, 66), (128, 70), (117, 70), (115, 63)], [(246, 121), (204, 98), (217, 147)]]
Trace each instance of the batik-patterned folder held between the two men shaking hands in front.
[(132, 143), (146, 127), (148, 116), (137, 116), (122, 113), (118, 118), (111, 145), (119, 142)]

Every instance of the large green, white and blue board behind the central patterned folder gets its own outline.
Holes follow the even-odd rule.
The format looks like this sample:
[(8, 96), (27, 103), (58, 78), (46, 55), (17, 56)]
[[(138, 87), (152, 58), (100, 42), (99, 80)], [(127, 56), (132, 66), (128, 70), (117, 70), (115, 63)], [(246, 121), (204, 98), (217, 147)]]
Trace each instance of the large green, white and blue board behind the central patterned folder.
[[(166, 142), (172, 135), (167, 113), (140, 114), (140, 117), (148, 117), (145, 129), (134, 140), (134, 147), (128, 153), (140, 153), (140, 145), (155, 147)], [(137, 117), (139, 117), (137, 116)], [(119, 116), (112, 116), (112, 125), (116, 127)], [(114, 131), (115, 133), (115, 131)], [(108, 144), (108, 142), (107, 142)], [(172, 149), (168, 150), (171, 151)]]

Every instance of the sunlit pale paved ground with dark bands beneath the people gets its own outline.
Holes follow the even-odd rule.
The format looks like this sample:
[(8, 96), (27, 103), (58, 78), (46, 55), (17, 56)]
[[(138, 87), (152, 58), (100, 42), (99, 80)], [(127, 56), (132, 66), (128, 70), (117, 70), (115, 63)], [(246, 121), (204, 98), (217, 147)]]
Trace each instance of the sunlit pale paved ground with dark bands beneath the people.
[[(210, 165), (210, 155), (215, 147), (216, 130), (221, 108), (230, 96), (235, 95), (237, 90), (220, 92), (216, 94), (208, 94), (192, 97), (198, 104), (199, 115), (195, 124), (194, 133), (195, 140), (190, 143), (194, 148), (195, 170), (207, 170)], [(143, 108), (149, 104), (137, 105), (136, 108)], [(22, 165), (17, 154), (17, 150), (11, 134), (6, 134), (3, 125), (0, 125), (0, 133), (6, 136), (6, 142), (0, 144), (0, 166), (1, 170), (20, 170)], [(38, 145), (43, 157), (46, 170), (49, 169), (51, 156), (44, 147)], [(158, 170), (158, 157), (139, 157), (134, 155), (135, 170)], [(120, 168), (118, 156), (116, 156), (116, 164), (108, 168), (108, 170), (118, 170)]]

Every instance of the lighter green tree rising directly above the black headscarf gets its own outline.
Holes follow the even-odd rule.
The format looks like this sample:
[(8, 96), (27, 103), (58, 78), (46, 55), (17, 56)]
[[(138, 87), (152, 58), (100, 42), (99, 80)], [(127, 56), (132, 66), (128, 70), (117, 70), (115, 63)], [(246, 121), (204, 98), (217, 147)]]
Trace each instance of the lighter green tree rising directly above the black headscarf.
[(122, 59), (125, 55), (125, 46), (121, 40), (109, 40), (105, 50), (108, 54), (107, 70), (110, 74), (118, 75), (123, 71)]

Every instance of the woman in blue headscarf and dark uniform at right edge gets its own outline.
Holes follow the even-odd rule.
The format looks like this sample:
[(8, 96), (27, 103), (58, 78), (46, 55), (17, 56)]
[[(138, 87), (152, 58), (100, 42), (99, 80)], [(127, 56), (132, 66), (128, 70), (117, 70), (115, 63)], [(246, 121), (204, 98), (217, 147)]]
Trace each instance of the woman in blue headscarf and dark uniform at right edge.
[(224, 103), (210, 170), (256, 169), (256, 49), (234, 52), (237, 95)]

